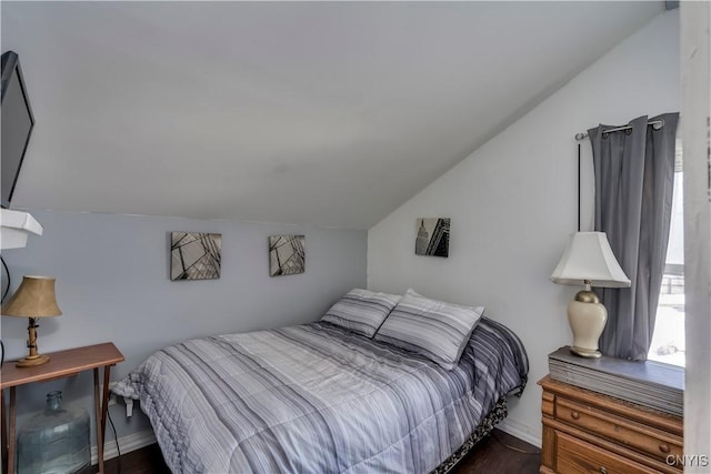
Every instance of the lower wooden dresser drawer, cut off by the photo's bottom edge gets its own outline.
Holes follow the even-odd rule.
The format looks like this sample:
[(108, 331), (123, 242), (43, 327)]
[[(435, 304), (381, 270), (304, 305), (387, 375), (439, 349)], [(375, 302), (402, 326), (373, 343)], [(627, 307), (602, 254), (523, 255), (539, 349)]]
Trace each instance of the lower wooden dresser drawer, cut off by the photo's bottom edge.
[(649, 466), (604, 451), (595, 445), (557, 433), (558, 474), (655, 474)]

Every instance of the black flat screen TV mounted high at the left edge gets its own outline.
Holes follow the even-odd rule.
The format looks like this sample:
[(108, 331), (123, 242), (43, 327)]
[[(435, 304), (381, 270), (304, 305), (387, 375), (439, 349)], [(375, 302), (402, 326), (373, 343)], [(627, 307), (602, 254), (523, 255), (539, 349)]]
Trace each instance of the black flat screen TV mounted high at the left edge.
[(20, 69), (20, 58), (13, 51), (2, 53), (2, 167), (0, 193), (2, 208), (9, 208), (20, 175), (27, 145), (30, 142), (34, 117)]

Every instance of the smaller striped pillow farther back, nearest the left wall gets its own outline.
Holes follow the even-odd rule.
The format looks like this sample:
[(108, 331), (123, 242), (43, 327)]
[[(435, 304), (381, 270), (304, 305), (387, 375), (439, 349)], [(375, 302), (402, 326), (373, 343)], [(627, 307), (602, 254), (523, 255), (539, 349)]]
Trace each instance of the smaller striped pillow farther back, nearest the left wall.
[(321, 317), (354, 333), (372, 337), (402, 296), (353, 289)]

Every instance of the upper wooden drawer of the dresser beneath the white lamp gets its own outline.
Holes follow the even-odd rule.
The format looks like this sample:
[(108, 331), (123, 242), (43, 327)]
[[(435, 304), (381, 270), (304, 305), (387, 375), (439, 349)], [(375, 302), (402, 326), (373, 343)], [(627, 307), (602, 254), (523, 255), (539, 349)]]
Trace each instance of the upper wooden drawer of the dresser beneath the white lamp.
[(679, 436), (564, 397), (557, 400), (555, 418), (660, 462), (683, 454)]

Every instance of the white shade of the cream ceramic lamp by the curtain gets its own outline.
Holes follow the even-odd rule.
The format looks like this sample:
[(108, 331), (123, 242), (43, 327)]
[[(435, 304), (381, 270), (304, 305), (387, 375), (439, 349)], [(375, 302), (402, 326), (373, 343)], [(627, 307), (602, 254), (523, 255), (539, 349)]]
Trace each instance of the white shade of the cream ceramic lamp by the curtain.
[(551, 275), (553, 283), (627, 288), (630, 279), (620, 268), (604, 232), (577, 232), (571, 235), (558, 266)]

